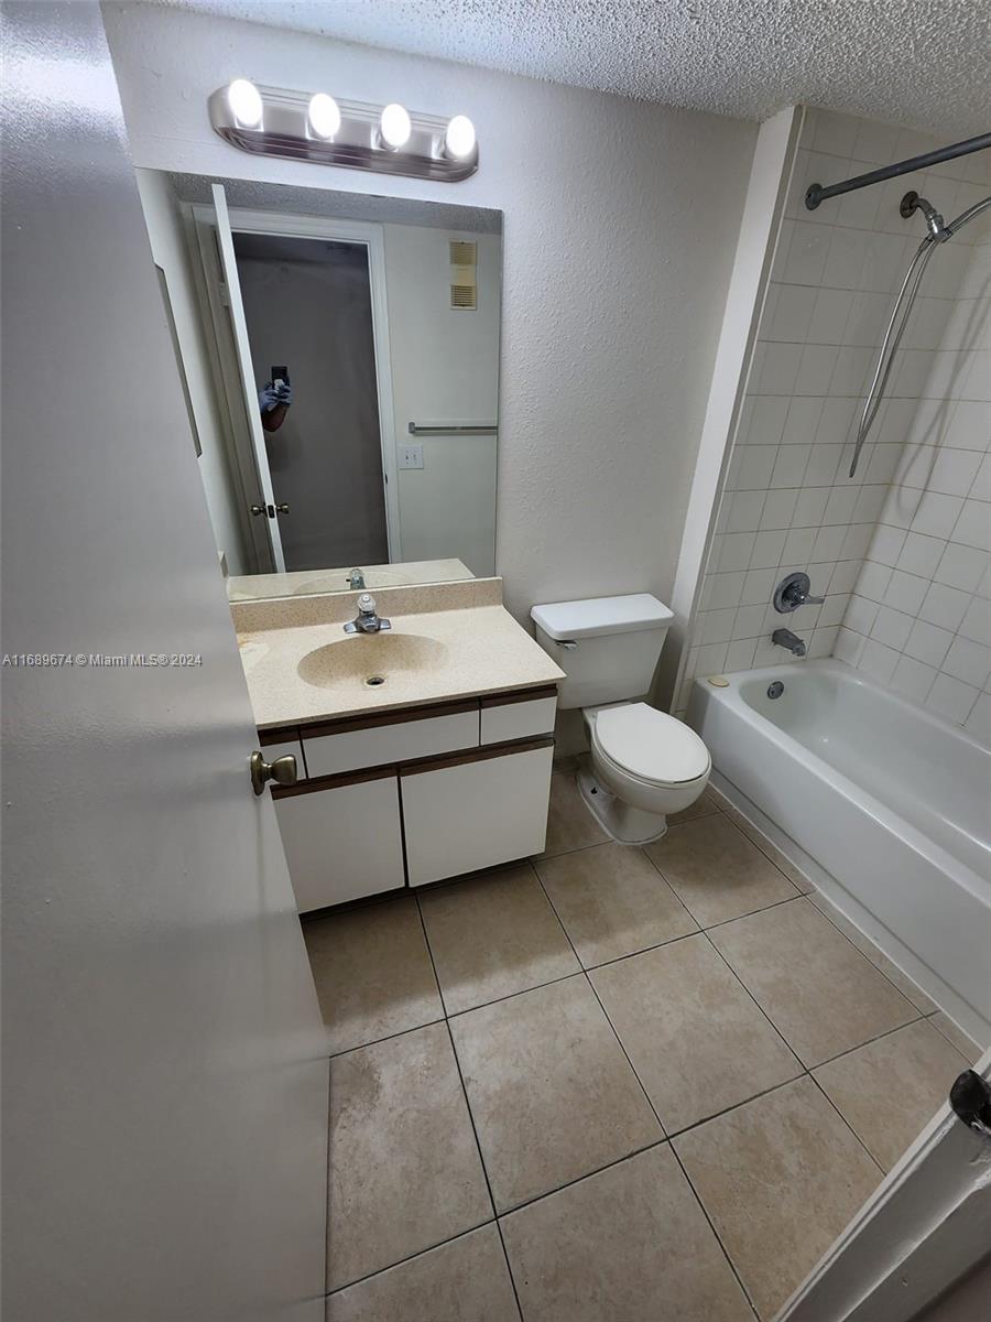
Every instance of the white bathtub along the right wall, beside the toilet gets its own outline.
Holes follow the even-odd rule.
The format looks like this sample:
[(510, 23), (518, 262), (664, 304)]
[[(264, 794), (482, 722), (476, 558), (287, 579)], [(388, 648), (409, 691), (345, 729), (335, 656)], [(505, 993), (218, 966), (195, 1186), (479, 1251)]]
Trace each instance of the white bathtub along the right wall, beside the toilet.
[(688, 703), (716, 788), (991, 1042), (991, 751), (843, 661), (727, 678)]

